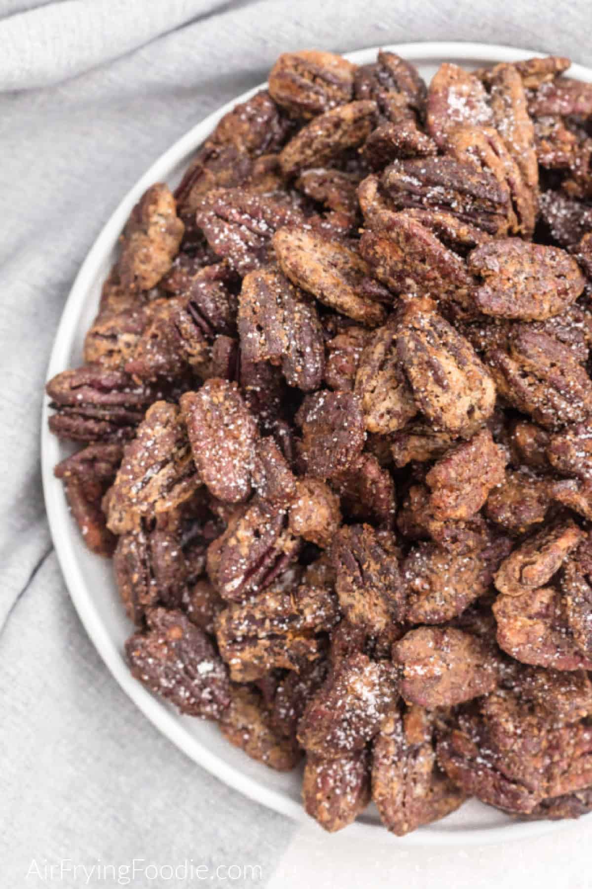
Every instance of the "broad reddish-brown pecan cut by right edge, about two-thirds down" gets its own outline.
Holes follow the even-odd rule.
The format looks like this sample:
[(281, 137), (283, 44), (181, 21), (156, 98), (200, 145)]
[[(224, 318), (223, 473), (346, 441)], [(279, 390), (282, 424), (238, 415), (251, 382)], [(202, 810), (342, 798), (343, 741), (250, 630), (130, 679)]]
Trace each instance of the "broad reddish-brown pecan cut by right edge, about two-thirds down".
[(552, 587), (497, 597), (493, 605), (497, 641), (517, 661), (559, 670), (592, 669), (568, 625), (567, 606)]

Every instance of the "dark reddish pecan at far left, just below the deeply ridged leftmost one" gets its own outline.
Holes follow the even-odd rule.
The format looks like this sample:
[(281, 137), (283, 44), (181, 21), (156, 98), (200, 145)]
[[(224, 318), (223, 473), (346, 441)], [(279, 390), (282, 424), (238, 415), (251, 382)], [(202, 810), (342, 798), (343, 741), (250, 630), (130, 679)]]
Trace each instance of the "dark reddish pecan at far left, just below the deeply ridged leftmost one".
[(111, 556), (116, 544), (107, 528), (101, 501), (121, 460), (121, 445), (87, 445), (53, 470), (53, 475), (64, 484), (67, 505), (84, 543), (98, 556)]

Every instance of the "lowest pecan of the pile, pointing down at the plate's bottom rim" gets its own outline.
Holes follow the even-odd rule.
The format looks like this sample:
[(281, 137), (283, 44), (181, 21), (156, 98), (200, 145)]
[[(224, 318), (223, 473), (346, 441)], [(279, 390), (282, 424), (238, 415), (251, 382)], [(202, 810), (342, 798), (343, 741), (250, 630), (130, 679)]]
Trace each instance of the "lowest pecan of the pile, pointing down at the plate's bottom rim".
[(454, 812), (465, 795), (439, 768), (437, 718), (422, 707), (392, 709), (372, 749), (372, 798), (397, 837)]

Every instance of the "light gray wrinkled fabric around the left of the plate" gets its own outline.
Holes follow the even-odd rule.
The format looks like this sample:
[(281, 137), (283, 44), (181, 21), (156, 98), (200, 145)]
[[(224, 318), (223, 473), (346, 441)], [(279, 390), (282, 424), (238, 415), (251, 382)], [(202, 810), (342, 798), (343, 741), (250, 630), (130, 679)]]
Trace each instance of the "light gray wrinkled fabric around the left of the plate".
[(122, 194), (192, 124), (264, 79), (279, 52), (478, 40), (589, 65), (590, 11), (587, 0), (0, 0), (2, 885), (42, 885), (25, 878), (33, 859), (133, 857), (256, 862), (265, 882), (294, 829), (189, 762), (134, 708), (51, 549), (43, 378), (76, 270)]

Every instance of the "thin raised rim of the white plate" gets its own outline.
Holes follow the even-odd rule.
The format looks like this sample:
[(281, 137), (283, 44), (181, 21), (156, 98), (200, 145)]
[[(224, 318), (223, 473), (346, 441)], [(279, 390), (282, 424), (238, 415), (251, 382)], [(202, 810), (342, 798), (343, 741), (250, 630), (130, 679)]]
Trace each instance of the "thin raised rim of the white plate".
[[(503, 44), (482, 44), (458, 41), (427, 41), (410, 44), (384, 44), (370, 46), (355, 52), (343, 53), (343, 56), (351, 61), (366, 63), (375, 57), (379, 49), (387, 52), (397, 52), (410, 61), (422, 61), (439, 63), (444, 60), (462, 64), (462, 60), (477, 60), (488, 63), (500, 61), (524, 60), (534, 57), (542, 57), (548, 53), (534, 52), (518, 47)], [(592, 82), (592, 68), (572, 64), (570, 76)], [(75, 276), (74, 283), (64, 303), (55, 338), (51, 346), (51, 356), (47, 366), (45, 380), (50, 380), (56, 373), (65, 369), (67, 352), (71, 348), (75, 336), (78, 316), (83, 305), (84, 297), (89, 291), (93, 278), (97, 275), (99, 267), (114, 248), (117, 237), (122, 231), (131, 208), (138, 202), (138, 198), (154, 181), (166, 178), (170, 170), (179, 164), (183, 158), (189, 155), (214, 129), (222, 116), (230, 111), (237, 103), (247, 100), (258, 90), (264, 89), (266, 84), (259, 84), (234, 99), (227, 102), (217, 111), (204, 117), (198, 124), (194, 124), (183, 136), (176, 140), (170, 148), (167, 148), (153, 164), (150, 164), (127, 194), (117, 204), (114, 212), (101, 228), (95, 238), (89, 252), (87, 252), (81, 267)], [(45, 509), (50, 527), (51, 539), (56, 551), (59, 567), (66, 583), (68, 594), (75, 605), (76, 612), (83, 623), (92, 644), (95, 646), (107, 669), (120, 685), (130, 700), (142, 711), (144, 716), (181, 749), (193, 762), (205, 768), (219, 781), (238, 790), (241, 794), (260, 805), (287, 815), (301, 824), (312, 824), (312, 819), (304, 813), (301, 805), (289, 797), (285, 797), (280, 790), (262, 786), (256, 778), (242, 773), (240, 769), (225, 763), (191, 733), (185, 730), (182, 718), (176, 712), (170, 710), (152, 693), (134, 679), (114, 641), (103, 625), (98, 611), (93, 605), (91, 591), (83, 580), (81, 566), (78, 564), (75, 551), (72, 548), (73, 525), (67, 509), (62, 485), (53, 476), (53, 466), (56, 461), (58, 440), (51, 435), (47, 420), (49, 416), (49, 398), (43, 396), (42, 429), (41, 429), (41, 469), (43, 480), (43, 497)], [(222, 736), (222, 743), (227, 743)], [(262, 765), (263, 769), (264, 766)], [(585, 818), (592, 819), (592, 813)], [(582, 819), (580, 819), (581, 823)], [(557, 829), (565, 829), (573, 821), (515, 821), (501, 826), (490, 828), (461, 828), (446, 829), (446, 819), (435, 822), (429, 829), (418, 829), (406, 837), (394, 837), (386, 829), (376, 829), (375, 824), (365, 823), (359, 819), (349, 828), (347, 836), (357, 839), (374, 839), (384, 842), (396, 842), (401, 845), (423, 846), (454, 846), (454, 845), (490, 845), (493, 843), (515, 841), (526, 837), (539, 837), (543, 834), (554, 832)], [(440, 826), (438, 826), (440, 825)]]

